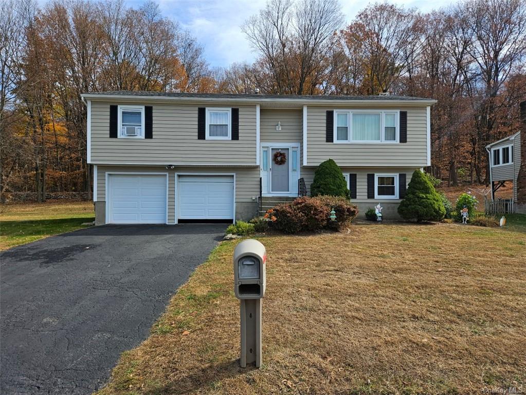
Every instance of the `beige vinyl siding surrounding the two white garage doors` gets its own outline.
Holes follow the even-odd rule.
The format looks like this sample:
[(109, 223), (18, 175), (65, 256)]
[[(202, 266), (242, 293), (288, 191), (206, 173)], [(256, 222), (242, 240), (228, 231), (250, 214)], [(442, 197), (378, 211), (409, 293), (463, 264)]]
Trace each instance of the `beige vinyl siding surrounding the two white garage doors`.
[(184, 167), (167, 170), (163, 166), (97, 166), (97, 201), (106, 201), (106, 173), (168, 173), (168, 223), (175, 222), (175, 173), (236, 174), (236, 203), (254, 202), (259, 196), (258, 167)]

